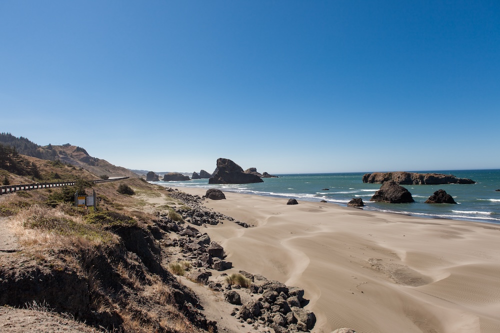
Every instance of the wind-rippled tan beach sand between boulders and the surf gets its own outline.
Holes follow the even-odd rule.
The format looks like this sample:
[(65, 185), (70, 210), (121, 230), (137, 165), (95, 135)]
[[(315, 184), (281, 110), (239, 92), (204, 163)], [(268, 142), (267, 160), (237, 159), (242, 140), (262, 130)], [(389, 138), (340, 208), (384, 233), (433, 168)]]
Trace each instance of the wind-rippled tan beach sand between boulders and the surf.
[[(190, 194), (205, 190), (179, 188)], [(204, 205), (234, 269), (305, 290), (312, 332), (500, 332), (500, 228), (224, 192)]]

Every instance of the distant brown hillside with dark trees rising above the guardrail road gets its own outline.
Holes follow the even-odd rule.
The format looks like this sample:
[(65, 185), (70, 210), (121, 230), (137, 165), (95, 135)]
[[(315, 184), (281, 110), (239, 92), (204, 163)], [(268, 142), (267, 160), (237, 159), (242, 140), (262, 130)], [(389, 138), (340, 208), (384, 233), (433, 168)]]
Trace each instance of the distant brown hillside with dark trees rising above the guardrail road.
[(78, 169), (84, 169), (98, 176), (137, 177), (132, 171), (112, 165), (106, 160), (90, 156), (84, 148), (64, 144), (61, 146), (48, 144), (40, 146), (22, 136), (15, 137), (10, 133), (0, 133), (0, 145), (7, 149), (15, 149), (19, 155), (35, 157), (39, 160), (60, 161)]

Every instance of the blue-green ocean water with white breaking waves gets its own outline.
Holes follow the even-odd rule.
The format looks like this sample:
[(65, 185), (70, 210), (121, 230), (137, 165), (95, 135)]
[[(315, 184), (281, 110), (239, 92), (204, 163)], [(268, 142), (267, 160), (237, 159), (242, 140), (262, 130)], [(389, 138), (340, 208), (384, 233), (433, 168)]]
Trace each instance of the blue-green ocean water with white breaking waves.
[[(392, 212), (428, 218), (446, 218), (477, 222), (500, 223), (500, 170), (437, 170), (415, 171), (452, 174), (470, 178), (476, 184), (402, 185), (413, 196), (414, 203), (387, 204), (370, 202), (380, 184), (362, 182), (364, 173), (289, 174), (279, 178), (264, 178), (263, 183), (219, 185), (208, 184), (208, 179), (177, 182), (155, 182), (167, 187), (184, 186), (218, 188), (222, 191), (321, 201), (346, 206), (352, 198), (363, 199), (365, 210)], [(324, 190), (328, 189), (328, 190)], [(456, 205), (425, 204), (430, 195), (442, 189), (453, 197)]]

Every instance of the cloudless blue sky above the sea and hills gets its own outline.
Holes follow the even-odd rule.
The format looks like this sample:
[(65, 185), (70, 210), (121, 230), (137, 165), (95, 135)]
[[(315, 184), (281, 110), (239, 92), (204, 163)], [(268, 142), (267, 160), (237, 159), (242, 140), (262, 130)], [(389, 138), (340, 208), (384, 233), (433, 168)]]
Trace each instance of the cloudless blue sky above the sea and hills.
[(500, 1), (0, 1), (0, 131), (130, 169), (500, 168)]

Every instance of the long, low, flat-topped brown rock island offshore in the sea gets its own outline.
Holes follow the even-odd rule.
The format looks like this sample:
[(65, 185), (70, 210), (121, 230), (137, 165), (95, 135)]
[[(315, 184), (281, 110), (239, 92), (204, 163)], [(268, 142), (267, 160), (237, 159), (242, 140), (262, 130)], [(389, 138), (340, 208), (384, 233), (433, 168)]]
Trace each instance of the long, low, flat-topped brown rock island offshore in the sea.
[(382, 184), (388, 180), (402, 185), (439, 185), (439, 184), (475, 184), (468, 178), (457, 178), (442, 173), (415, 173), (415, 172), (373, 172), (363, 175), (363, 183)]

